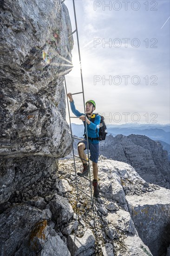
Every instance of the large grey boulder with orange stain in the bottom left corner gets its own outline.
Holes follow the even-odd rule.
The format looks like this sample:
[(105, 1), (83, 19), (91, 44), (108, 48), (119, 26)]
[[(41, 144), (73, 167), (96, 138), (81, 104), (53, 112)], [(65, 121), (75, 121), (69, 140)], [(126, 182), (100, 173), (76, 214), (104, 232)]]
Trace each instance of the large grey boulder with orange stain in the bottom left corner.
[(70, 256), (60, 236), (47, 225), (51, 217), (49, 209), (13, 204), (0, 215), (0, 255)]

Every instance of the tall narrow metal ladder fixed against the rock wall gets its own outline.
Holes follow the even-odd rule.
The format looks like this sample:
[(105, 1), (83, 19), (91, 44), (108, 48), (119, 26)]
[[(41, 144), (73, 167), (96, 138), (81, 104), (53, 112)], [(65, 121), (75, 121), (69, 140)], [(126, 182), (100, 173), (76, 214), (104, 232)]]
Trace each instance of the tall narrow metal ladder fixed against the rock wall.
[[(64, 2), (65, 2), (65, 0), (63, 0), (63, 1), (61, 2), (61, 4), (63, 4)], [(75, 94), (83, 94), (84, 112), (85, 112), (85, 96), (84, 96), (83, 75), (82, 75), (82, 68), (81, 68), (80, 47), (79, 47), (79, 40), (78, 40), (78, 27), (77, 27), (77, 19), (76, 19), (76, 10), (75, 10), (75, 3), (74, 3), (74, 0), (72, 0), (72, 2), (73, 2), (73, 9), (74, 9), (74, 18), (75, 18), (75, 26), (76, 26), (76, 29), (75, 29), (68, 37), (72, 36), (72, 34), (74, 34), (75, 32), (76, 32), (76, 34), (77, 34), (78, 55), (79, 55), (80, 74), (81, 74), (81, 84), (82, 84), (82, 91), (81, 91), (81, 92), (78, 92), (78, 93), (73, 93), (72, 95), (75, 95)], [(65, 81), (65, 76), (64, 76), (64, 81)], [(67, 95), (66, 81), (65, 81), (65, 92), (66, 92), (66, 95)], [(91, 198), (91, 201), (92, 201), (92, 206), (93, 206), (93, 195), (92, 195), (91, 174), (90, 174), (89, 142), (88, 142), (88, 133), (87, 133), (87, 122), (86, 122), (86, 119), (85, 119), (85, 131), (86, 131), (86, 135), (87, 135), (87, 136), (86, 136), (86, 140), (87, 140), (87, 155), (88, 155), (88, 160), (83, 159), (83, 158), (80, 158), (78, 155), (75, 155), (75, 154), (74, 154), (73, 139), (80, 140), (80, 141), (82, 141), (83, 139), (80, 139), (80, 138), (77, 138), (77, 137), (72, 136), (71, 118), (79, 118), (79, 117), (77, 117), (77, 116), (70, 116), (69, 101), (68, 101), (68, 97), (66, 97), (66, 98), (67, 98), (68, 114), (69, 114), (69, 120), (70, 120), (70, 129), (71, 129), (71, 138), (72, 138), (72, 152), (73, 152), (74, 169), (75, 169), (75, 175), (76, 175), (77, 194), (78, 194), (78, 190), (80, 190), (82, 193), (84, 193), (85, 195), (87, 195), (88, 197), (90, 197), (90, 198)], [(85, 116), (86, 116), (86, 115), (85, 115)], [(82, 177), (82, 178), (85, 178), (86, 180), (88, 180), (88, 181), (90, 182), (90, 191), (91, 191), (91, 195), (88, 195), (87, 193), (85, 193), (85, 191), (83, 191), (82, 189), (78, 188), (75, 157), (77, 157), (77, 158), (79, 158), (79, 159), (83, 159), (83, 160), (85, 160), (86, 162), (89, 163), (89, 164), (88, 164), (88, 168), (89, 168), (89, 176), (90, 176), (90, 179), (88, 179), (88, 178), (86, 178), (86, 177)]]

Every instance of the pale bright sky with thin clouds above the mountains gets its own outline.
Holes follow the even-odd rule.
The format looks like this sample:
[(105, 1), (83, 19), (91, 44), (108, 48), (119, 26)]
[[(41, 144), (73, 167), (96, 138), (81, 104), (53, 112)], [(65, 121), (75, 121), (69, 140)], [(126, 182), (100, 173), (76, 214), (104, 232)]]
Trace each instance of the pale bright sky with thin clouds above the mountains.
[[(75, 30), (72, 0), (65, 0)], [(170, 123), (170, 1), (75, 0), (85, 101), (107, 124)], [(82, 91), (76, 33), (67, 92)], [(82, 94), (73, 95), (84, 112)], [(69, 123), (68, 109), (66, 120)], [(81, 124), (78, 119), (72, 122)]]

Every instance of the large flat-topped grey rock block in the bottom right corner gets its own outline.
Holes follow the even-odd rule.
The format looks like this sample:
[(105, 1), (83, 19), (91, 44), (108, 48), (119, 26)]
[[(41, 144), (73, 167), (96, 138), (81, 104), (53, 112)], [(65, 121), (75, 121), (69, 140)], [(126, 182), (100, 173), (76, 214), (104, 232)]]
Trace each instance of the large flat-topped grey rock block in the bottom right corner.
[(170, 190), (161, 188), (143, 195), (127, 195), (126, 200), (143, 242), (153, 255), (163, 255), (170, 243)]

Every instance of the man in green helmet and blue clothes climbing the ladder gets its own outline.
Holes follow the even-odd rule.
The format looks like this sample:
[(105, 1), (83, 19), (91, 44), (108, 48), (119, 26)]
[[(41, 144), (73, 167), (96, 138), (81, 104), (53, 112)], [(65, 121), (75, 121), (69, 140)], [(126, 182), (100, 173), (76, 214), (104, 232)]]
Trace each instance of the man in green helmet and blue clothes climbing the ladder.
[[(80, 120), (83, 121), (85, 126), (85, 114), (79, 112), (74, 105), (74, 101), (72, 98), (72, 94), (68, 93), (67, 97), (70, 100), (70, 106), (72, 109), (72, 113), (79, 117)], [(86, 101), (85, 103), (85, 112), (86, 112), (86, 122), (87, 122), (87, 134), (88, 134), (88, 143), (90, 149), (90, 160), (92, 161), (93, 168), (93, 196), (98, 197), (99, 188), (98, 188), (98, 156), (99, 156), (99, 141), (98, 141), (98, 132), (99, 132), (99, 124), (100, 124), (100, 115), (93, 114), (93, 111), (96, 109), (96, 103), (93, 100)], [(81, 158), (83, 163), (83, 170), (78, 172), (78, 176), (84, 177), (89, 175), (89, 167), (86, 163), (86, 155), (84, 150), (87, 148), (87, 140), (86, 134), (83, 141), (78, 142), (78, 155)]]

